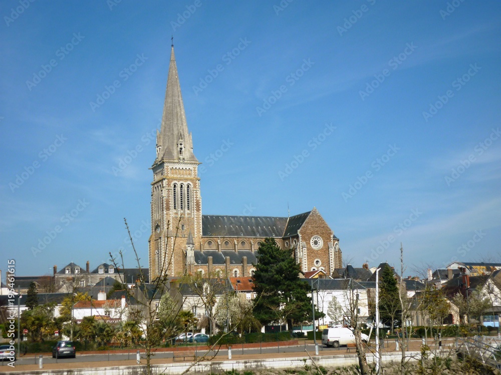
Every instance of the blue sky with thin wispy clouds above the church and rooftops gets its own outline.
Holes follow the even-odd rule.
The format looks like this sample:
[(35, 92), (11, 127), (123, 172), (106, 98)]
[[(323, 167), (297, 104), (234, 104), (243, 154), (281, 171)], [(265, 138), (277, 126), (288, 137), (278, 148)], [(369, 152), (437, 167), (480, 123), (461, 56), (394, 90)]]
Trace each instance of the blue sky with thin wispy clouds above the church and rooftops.
[(94, 268), (121, 247), (135, 266), (123, 217), (148, 265), (171, 35), (204, 214), (316, 206), (345, 262), (398, 266), (402, 242), (405, 275), (501, 261), (498, 1), (9, 0), (0, 15), (3, 270)]

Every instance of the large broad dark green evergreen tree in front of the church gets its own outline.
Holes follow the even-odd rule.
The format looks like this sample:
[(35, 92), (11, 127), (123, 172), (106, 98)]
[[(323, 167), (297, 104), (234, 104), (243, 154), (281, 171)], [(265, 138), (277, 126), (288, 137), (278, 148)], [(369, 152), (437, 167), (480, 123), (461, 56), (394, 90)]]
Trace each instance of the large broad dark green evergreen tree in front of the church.
[(310, 286), (299, 278), (300, 268), (292, 249), (281, 249), (274, 238), (266, 238), (258, 251), (254, 273), (256, 318), (262, 324), (287, 321), (291, 330), (293, 324), (311, 319)]

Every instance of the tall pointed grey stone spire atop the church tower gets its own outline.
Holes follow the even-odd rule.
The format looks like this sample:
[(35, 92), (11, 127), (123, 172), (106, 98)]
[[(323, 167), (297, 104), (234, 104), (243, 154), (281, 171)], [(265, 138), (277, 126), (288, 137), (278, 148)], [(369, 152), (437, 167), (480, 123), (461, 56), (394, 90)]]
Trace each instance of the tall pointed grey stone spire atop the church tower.
[(186, 114), (184, 113), (181, 86), (177, 75), (174, 45), (171, 46), (169, 75), (163, 105), (162, 127), (157, 135), (157, 157), (161, 160), (174, 162), (199, 163), (193, 154), (191, 133), (188, 132)]

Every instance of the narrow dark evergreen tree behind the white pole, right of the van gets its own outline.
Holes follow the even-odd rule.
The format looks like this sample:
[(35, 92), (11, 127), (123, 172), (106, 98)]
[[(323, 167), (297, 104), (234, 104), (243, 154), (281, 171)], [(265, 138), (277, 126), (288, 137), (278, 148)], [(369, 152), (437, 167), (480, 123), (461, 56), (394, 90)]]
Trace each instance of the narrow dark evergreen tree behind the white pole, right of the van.
[(379, 293), (379, 314), (383, 324), (393, 327), (395, 323), (400, 324), (400, 298), (398, 294), (397, 280), (395, 279), (393, 268), (388, 264), (381, 269)]

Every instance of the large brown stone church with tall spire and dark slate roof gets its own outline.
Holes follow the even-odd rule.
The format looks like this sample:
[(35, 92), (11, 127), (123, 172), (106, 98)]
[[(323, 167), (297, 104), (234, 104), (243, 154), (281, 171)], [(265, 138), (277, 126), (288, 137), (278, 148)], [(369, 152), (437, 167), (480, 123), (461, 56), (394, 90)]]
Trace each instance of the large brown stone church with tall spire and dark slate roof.
[(151, 166), (151, 235), (149, 275), (249, 277), (266, 237), (292, 256), (302, 272), (342, 267), (339, 238), (313, 207), (294, 216), (202, 215), (198, 161), (188, 131), (171, 46), (167, 89), (156, 158)]

